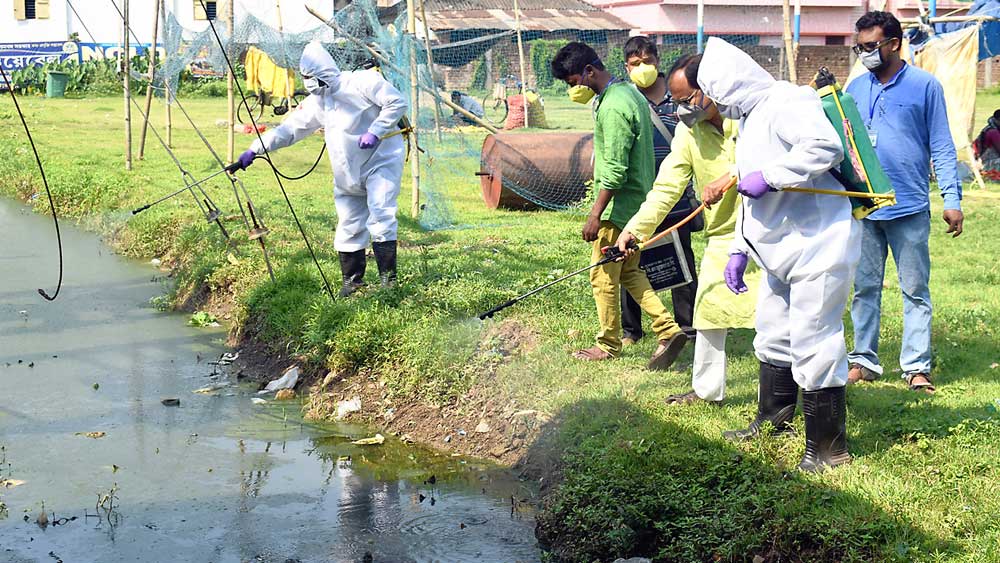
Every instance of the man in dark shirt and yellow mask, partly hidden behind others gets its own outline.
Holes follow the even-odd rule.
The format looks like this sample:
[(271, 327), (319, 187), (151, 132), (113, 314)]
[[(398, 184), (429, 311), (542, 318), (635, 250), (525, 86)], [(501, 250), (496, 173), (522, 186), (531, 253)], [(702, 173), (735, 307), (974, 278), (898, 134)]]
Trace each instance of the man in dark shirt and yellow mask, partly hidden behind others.
[[(655, 126), (653, 127), (653, 154), (656, 156), (656, 169), (659, 170), (660, 164), (670, 154), (670, 143), (673, 140), (674, 128), (677, 127), (678, 122), (677, 104), (670, 98), (666, 77), (658, 70), (660, 55), (656, 50), (655, 43), (644, 35), (637, 35), (625, 43), (624, 55), (625, 70), (629, 73), (636, 88), (649, 102), (649, 107), (652, 110), (651, 117), (655, 115), (662, 124), (662, 127), (659, 127), (655, 126), (657, 123), (653, 123)], [(681, 198), (680, 203), (664, 219), (663, 223), (656, 229), (657, 231), (666, 229), (693, 211), (693, 209), (689, 209), (687, 195), (689, 194), (685, 193), (685, 197)], [(687, 212), (685, 213), (685, 211)], [(689, 284), (670, 290), (670, 297), (674, 307), (674, 319), (688, 335), (688, 338), (693, 339), (695, 330), (692, 328), (692, 323), (694, 321), (694, 297), (698, 291), (698, 274), (695, 270), (694, 251), (691, 249), (690, 228), (688, 226), (681, 227), (677, 234), (681, 239), (681, 247), (684, 249), (684, 258), (687, 261), (692, 280)], [(642, 314), (639, 304), (623, 289), (622, 344), (625, 346), (634, 344), (642, 337)]]

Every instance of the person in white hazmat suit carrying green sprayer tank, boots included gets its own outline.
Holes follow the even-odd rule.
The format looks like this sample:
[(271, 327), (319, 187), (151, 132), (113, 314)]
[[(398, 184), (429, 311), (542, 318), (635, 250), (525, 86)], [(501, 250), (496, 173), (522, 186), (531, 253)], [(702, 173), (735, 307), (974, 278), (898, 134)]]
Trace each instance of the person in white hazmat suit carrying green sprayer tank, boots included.
[(787, 432), (802, 390), (804, 471), (849, 462), (844, 386), (844, 307), (860, 255), (861, 227), (846, 197), (783, 192), (792, 186), (843, 190), (828, 173), (843, 158), (819, 96), (776, 81), (722, 39), (705, 47), (698, 85), (719, 111), (739, 120), (737, 190), (743, 194), (726, 285), (746, 291), (748, 258), (764, 271), (754, 350), (760, 360), (757, 417), (731, 440), (759, 435), (770, 422)]

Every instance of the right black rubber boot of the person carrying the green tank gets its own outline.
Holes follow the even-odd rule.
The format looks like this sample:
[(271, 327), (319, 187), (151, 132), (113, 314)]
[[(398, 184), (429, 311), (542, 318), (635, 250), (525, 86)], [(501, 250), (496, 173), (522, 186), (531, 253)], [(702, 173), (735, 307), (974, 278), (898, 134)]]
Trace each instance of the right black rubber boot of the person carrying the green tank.
[(799, 469), (818, 473), (851, 461), (847, 453), (847, 401), (844, 387), (802, 392), (806, 453)]

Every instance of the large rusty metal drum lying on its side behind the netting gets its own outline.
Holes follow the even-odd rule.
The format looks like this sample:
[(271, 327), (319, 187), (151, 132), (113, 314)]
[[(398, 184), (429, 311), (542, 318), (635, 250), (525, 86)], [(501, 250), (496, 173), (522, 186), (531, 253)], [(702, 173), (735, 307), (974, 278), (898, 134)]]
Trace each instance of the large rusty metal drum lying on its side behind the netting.
[(593, 133), (496, 133), (480, 157), (490, 209), (564, 209), (587, 195), (594, 177)]

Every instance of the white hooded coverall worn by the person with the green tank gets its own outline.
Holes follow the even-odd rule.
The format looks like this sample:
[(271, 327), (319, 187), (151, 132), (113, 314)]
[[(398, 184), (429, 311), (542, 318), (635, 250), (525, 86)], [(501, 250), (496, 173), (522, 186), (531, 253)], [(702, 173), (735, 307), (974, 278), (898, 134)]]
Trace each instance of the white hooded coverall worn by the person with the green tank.
[(749, 254), (765, 272), (757, 300), (757, 358), (791, 366), (805, 391), (842, 387), (847, 383), (843, 315), (860, 256), (861, 226), (846, 197), (780, 191), (843, 190), (827, 173), (843, 158), (840, 138), (813, 89), (776, 81), (722, 39), (708, 40), (698, 85), (740, 119), (740, 177), (759, 170), (778, 190), (743, 198), (732, 248)]

